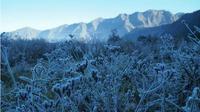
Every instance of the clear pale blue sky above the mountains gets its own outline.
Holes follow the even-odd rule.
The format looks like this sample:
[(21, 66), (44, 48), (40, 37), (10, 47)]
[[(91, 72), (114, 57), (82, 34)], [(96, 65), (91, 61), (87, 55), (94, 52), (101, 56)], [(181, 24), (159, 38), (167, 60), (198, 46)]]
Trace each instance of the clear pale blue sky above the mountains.
[(0, 0), (0, 32), (44, 30), (148, 9), (193, 12), (200, 9), (200, 0)]

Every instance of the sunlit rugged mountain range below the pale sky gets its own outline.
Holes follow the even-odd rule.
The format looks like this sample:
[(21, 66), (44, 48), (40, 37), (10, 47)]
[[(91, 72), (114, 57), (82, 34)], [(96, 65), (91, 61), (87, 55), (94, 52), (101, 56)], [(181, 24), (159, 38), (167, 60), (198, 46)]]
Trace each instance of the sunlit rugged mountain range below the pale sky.
[[(143, 30), (149, 31), (153, 27), (158, 27), (159, 29), (161, 25), (171, 24), (182, 15), (184, 14), (172, 14), (165, 10), (147, 10), (145, 12), (135, 12), (130, 15), (120, 14), (115, 18), (98, 18), (89, 23), (62, 25), (43, 31), (25, 27), (13, 32), (7, 32), (7, 34), (14, 39), (42, 38), (50, 42), (69, 40), (69, 34), (74, 35), (74, 38), (78, 40), (88, 41), (91, 39), (98, 39), (104, 41), (109, 38), (111, 30), (113, 29), (117, 29), (120, 36), (127, 35), (129, 38), (134, 32), (137, 32), (139, 35), (142, 34)], [(157, 32), (159, 31), (156, 30), (155, 33)]]

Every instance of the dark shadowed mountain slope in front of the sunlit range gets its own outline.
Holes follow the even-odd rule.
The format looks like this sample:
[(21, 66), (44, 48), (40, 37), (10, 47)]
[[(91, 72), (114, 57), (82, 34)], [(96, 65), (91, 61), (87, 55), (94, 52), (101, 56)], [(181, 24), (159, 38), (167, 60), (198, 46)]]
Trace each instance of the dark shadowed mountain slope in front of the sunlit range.
[(176, 37), (186, 37), (189, 33), (189, 30), (182, 23), (182, 21), (185, 21), (191, 29), (194, 29), (194, 26), (200, 27), (199, 20), (200, 10), (195, 11), (193, 13), (185, 14), (180, 19), (171, 24), (151, 28), (136, 28), (130, 33), (126, 34), (124, 38), (129, 40), (135, 40), (139, 36), (161, 36), (163, 34), (171, 34), (172, 36)]

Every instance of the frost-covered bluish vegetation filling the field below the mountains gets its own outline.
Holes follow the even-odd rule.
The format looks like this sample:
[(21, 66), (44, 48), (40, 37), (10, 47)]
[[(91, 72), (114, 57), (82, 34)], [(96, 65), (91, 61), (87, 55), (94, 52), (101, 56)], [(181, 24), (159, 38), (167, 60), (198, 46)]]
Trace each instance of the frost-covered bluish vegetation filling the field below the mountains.
[(107, 42), (1, 34), (2, 112), (200, 112), (200, 30)]

